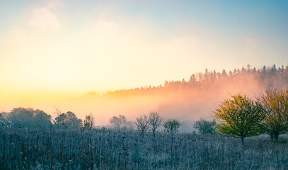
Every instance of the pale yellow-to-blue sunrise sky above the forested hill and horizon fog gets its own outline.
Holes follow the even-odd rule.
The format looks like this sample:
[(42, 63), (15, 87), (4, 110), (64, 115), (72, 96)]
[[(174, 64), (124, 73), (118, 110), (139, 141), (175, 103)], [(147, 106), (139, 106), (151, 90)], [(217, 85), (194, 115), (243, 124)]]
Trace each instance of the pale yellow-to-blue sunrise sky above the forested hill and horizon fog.
[(0, 1), (0, 99), (286, 66), (287, 30), (288, 1)]

